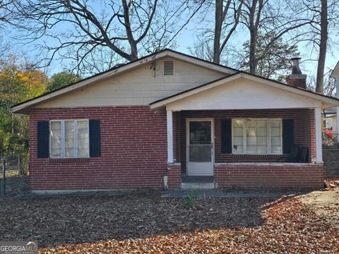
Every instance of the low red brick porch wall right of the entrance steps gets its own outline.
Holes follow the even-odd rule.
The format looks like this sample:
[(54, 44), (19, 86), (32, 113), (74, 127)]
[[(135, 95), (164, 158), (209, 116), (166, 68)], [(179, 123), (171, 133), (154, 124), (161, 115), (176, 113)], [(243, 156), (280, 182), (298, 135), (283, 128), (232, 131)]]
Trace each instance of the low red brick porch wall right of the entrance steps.
[(218, 188), (322, 188), (323, 165), (215, 165)]

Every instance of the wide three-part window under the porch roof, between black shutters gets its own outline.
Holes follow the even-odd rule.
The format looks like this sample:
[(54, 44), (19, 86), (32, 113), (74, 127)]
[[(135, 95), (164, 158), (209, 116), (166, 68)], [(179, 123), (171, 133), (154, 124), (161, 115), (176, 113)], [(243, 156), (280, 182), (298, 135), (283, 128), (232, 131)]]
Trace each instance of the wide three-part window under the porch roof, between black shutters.
[(234, 154), (281, 154), (281, 119), (232, 119), (232, 152)]

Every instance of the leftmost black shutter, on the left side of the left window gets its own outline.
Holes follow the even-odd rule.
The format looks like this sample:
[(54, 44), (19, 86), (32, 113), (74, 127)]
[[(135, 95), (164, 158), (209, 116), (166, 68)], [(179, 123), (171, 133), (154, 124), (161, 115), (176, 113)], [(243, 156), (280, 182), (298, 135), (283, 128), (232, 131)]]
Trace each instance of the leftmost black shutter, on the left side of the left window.
[(37, 157), (49, 157), (49, 122), (37, 122)]

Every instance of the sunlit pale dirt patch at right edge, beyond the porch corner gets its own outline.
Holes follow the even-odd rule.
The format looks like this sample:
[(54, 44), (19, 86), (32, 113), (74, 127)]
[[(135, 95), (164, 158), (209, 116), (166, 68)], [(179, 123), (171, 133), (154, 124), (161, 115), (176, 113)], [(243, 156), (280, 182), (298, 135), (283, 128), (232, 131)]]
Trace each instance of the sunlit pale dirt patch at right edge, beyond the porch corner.
[(301, 200), (320, 217), (339, 228), (339, 188), (331, 191), (313, 191)]

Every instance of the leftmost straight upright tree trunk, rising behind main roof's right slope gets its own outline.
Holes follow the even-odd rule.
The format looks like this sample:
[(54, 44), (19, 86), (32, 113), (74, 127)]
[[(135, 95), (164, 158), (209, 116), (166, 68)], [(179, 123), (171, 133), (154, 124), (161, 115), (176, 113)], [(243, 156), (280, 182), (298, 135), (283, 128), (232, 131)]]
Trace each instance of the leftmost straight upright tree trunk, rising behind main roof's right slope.
[(213, 62), (220, 63), (220, 37), (222, 28), (222, 1), (215, 0), (215, 28), (213, 44)]

